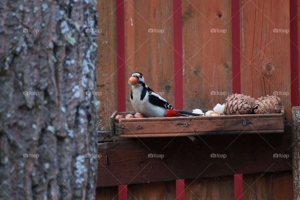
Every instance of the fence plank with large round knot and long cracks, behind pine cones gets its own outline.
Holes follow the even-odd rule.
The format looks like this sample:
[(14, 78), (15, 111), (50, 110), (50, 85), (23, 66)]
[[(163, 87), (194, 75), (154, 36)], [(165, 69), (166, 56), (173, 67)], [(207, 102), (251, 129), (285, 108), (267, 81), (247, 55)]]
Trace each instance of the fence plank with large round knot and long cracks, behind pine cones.
[(241, 92), (278, 94), (291, 123), (289, 1), (241, 1)]

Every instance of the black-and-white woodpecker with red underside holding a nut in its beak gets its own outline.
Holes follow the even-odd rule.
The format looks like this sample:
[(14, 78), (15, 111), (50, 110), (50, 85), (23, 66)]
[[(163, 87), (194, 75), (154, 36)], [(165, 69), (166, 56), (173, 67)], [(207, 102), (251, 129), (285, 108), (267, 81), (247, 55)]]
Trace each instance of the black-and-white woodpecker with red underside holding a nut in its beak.
[(145, 117), (199, 116), (195, 113), (174, 110), (164, 98), (145, 84), (143, 74), (135, 72), (128, 80), (131, 85), (130, 101), (134, 110)]

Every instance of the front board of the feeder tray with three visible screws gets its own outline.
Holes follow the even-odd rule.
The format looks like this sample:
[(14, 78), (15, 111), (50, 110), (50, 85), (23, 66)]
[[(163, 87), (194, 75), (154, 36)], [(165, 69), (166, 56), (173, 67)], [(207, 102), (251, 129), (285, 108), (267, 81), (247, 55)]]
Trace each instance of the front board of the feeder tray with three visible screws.
[[(225, 116), (224, 116), (225, 117)], [(201, 120), (202, 118), (202, 120)], [(283, 118), (259, 118), (259, 119), (225, 119), (181, 120), (172, 122), (127, 122), (120, 123), (119, 134), (145, 134), (145, 133), (190, 133), (190, 132), (217, 132), (217, 131), (259, 131), (259, 130), (283, 130)], [(247, 123), (244, 125), (243, 122)], [(155, 128), (153, 128), (155, 127)]]

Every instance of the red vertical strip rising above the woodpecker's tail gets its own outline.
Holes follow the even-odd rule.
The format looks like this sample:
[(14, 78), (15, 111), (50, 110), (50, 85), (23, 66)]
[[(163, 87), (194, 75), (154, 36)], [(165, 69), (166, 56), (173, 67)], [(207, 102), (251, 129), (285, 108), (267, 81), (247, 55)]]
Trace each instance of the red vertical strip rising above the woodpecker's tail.
[(183, 109), (181, 0), (173, 1), (175, 109)]

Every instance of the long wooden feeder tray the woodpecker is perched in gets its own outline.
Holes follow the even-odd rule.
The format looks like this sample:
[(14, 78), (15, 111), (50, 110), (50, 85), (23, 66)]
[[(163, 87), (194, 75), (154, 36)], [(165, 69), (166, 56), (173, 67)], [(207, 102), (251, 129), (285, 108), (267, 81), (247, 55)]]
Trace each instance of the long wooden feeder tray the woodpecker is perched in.
[[(221, 115), (172, 118), (124, 118), (111, 116), (112, 135), (121, 138), (154, 138), (240, 133), (283, 133), (284, 108), (279, 114)], [(121, 115), (134, 114), (123, 112)]]

